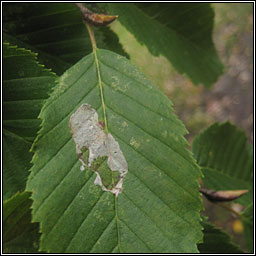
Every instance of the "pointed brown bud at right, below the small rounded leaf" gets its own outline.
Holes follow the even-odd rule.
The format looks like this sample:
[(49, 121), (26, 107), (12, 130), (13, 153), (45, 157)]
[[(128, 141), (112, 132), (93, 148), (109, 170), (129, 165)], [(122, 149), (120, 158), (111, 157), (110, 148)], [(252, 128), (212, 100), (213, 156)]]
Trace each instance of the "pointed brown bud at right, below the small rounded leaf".
[(211, 202), (232, 201), (248, 192), (247, 189), (215, 191), (215, 190), (203, 189), (203, 188), (199, 189), (199, 191)]

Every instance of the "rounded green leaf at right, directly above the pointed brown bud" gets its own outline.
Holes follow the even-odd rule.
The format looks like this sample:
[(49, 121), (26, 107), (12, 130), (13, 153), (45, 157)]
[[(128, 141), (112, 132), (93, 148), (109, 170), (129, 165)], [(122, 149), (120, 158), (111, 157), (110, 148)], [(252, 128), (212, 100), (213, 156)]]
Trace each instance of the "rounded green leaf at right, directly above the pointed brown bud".
[(229, 122), (215, 123), (194, 139), (192, 152), (202, 167), (207, 188), (248, 189), (247, 194), (235, 201), (243, 205), (252, 202), (252, 146), (243, 131)]

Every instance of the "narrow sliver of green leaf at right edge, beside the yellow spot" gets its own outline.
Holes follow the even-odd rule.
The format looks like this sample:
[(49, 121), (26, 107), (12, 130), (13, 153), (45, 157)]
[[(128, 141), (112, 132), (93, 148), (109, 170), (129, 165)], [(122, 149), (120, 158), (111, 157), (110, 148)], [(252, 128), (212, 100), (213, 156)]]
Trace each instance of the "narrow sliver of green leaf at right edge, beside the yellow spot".
[(242, 221), (244, 225), (244, 237), (246, 246), (250, 253), (253, 252), (253, 203), (251, 203), (242, 213)]

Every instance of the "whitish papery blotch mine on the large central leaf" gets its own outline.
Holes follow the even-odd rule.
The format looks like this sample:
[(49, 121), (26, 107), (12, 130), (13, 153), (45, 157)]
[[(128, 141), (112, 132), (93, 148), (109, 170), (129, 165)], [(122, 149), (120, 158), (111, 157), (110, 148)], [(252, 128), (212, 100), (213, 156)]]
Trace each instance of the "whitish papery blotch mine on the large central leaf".
[(85, 166), (91, 168), (97, 175), (94, 184), (118, 196), (128, 165), (118, 142), (104, 132), (96, 110), (89, 104), (82, 104), (70, 117), (69, 125), (82, 162), (81, 171)]

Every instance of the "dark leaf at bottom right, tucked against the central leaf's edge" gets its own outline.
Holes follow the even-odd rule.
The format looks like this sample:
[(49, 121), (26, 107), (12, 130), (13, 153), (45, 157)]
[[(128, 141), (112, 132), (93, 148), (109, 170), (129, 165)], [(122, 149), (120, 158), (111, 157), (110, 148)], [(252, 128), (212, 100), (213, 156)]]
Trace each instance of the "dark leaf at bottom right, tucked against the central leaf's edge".
[(203, 221), (202, 225), (204, 228), (204, 241), (198, 245), (200, 253), (244, 253), (237, 245), (232, 243), (231, 237), (226, 232), (216, 228), (208, 221)]

